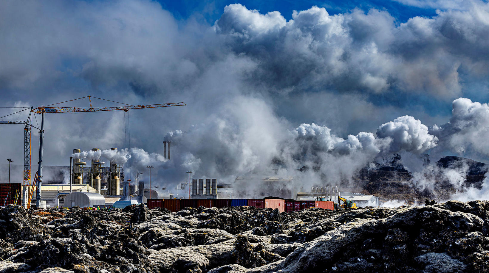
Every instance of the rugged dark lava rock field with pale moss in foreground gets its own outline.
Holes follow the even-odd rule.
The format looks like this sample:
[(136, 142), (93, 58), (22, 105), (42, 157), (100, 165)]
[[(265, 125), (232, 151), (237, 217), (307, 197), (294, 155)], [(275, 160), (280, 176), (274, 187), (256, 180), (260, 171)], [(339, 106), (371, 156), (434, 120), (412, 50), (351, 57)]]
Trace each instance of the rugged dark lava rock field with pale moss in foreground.
[(0, 272), (489, 272), (489, 201), (296, 213), (0, 208)]

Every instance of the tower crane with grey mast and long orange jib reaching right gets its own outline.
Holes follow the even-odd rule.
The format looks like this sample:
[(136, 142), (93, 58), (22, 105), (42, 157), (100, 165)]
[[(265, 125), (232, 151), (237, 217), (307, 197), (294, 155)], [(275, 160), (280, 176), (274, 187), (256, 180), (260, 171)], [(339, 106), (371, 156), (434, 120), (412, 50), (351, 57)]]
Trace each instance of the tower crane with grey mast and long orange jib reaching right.
[[(61, 103), (69, 102), (69, 101), (74, 101), (78, 99), (83, 99), (83, 98), (88, 98), (90, 107), (61, 107), (61, 106), (56, 106)], [(43, 183), (43, 176), (42, 176), (42, 171), (43, 171), (43, 139), (44, 139), (44, 114), (50, 114), (50, 113), (87, 113), (87, 112), (102, 112), (102, 111), (117, 111), (117, 110), (123, 110), (124, 112), (128, 112), (129, 110), (133, 109), (147, 109), (147, 108), (159, 108), (159, 107), (171, 107), (171, 106), (184, 106), (187, 105), (183, 102), (173, 102), (173, 103), (160, 103), (160, 104), (147, 104), (147, 105), (131, 105), (127, 103), (122, 103), (122, 102), (117, 102), (109, 99), (104, 99), (104, 98), (96, 98), (100, 100), (106, 100), (110, 102), (115, 102), (122, 104), (121, 106), (116, 106), (116, 107), (93, 107), (92, 106), (92, 96), (86, 96), (82, 98), (75, 98), (75, 99), (70, 99), (58, 103), (53, 103), (49, 104), (46, 106), (42, 107), (37, 107), (32, 110), (32, 113), (35, 114), (40, 114), (41, 115), (41, 129), (40, 129), (40, 136), (39, 136), (39, 162), (38, 162), (38, 170), (35, 176), (35, 181), (37, 182), (37, 193), (36, 193), (36, 205), (39, 208), (40, 203), (41, 203), (41, 185)], [(31, 187), (33, 188), (33, 187)], [(31, 191), (32, 192), (32, 191)], [(32, 199), (33, 193), (29, 194), (29, 203), (30, 200)]]

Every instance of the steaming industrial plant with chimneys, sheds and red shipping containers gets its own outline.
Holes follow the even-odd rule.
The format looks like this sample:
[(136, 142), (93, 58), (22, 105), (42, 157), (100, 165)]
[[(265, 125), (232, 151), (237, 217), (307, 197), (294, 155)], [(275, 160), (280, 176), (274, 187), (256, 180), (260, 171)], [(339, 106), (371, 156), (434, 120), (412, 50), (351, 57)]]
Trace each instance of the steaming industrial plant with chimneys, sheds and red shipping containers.
[[(163, 141), (163, 156), (171, 160), (171, 141)], [(118, 153), (117, 148), (110, 148), (110, 154)], [(378, 207), (380, 198), (374, 195), (365, 195), (351, 192), (340, 192), (337, 186), (300, 186), (302, 181), (297, 181), (294, 176), (237, 176), (234, 181), (225, 181), (219, 183), (217, 178), (193, 178), (191, 185), (187, 188), (188, 195), (182, 194), (177, 196), (170, 191), (160, 189), (157, 183), (151, 184), (129, 179), (124, 174), (124, 164), (120, 164), (115, 159), (91, 156), (91, 159), (85, 160), (81, 149), (73, 149), (73, 156), (70, 156), (69, 179), (68, 183), (50, 183), (44, 181), (41, 186), (42, 201), (40, 208), (48, 207), (124, 207), (128, 204), (144, 203), (150, 208), (161, 207), (171, 211), (177, 208), (194, 207), (200, 205), (204, 207), (223, 207), (233, 205), (250, 205), (266, 208), (279, 208), (280, 211), (300, 211), (306, 207), (328, 207), (336, 209), (341, 208), (344, 198), (350, 203), (355, 203), (356, 207)], [(84, 152), (87, 153), (87, 152)], [(101, 155), (99, 148), (92, 148), (89, 153), (92, 155)], [(58, 167), (63, 169), (66, 167)], [(56, 170), (56, 169), (54, 169)], [(53, 170), (51, 170), (53, 171)], [(154, 177), (155, 179), (155, 177)], [(66, 177), (63, 179), (66, 182)], [(158, 179), (156, 179), (157, 181)], [(154, 180), (155, 181), (155, 180)], [(171, 184), (172, 182), (170, 182)], [(20, 204), (25, 208), (28, 207), (29, 191), (37, 191), (22, 187), (20, 183), (0, 184), (2, 198), (5, 204)], [(294, 185), (292, 187), (292, 185)], [(6, 186), (6, 187), (5, 187)], [(21, 191), (21, 188), (23, 190)], [(252, 188), (252, 191), (243, 189)], [(305, 190), (305, 188), (307, 190)], [(19, 194), (21, 193), (21, 194)], [(282, 202), (266, 201), (267, 198), (284, 200)], [(35, 202), (35, 196), (32, 197), (31, 203)], [(184, 200), (187, 201), (184, 201)], [(264, 200), (263, 202), (256, 200)], [(188, 200), (194, 200), (188, 202)], [(301, 201), (311, 201), (312, 203), (299, 204)], [(181, 202), (177, 204), (177, 202)], [(322, 202), (330, 202), (324, 205)], [(344, 203), (344, 202), (343, 202)], [(257, 205), (258, 204), (258, 205)], [(340, 205), (338, 205), (340, 204)], [(351, 204), (350, 206), (352, 206)], [(275, 206), (275, 207), (274, 207)]]

